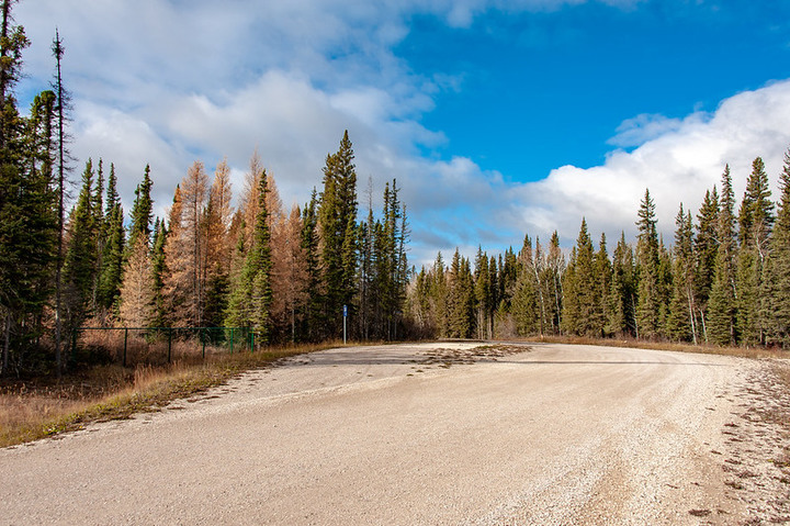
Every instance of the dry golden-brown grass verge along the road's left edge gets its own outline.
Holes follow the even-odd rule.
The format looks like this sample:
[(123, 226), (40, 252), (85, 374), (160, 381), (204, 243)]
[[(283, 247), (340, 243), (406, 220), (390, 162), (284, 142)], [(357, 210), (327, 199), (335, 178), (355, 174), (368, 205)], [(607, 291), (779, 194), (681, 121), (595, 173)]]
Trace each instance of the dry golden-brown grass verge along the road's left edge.
[(0, 384), (0, 447), (82, 429), (94, 422), (159, 411), (173, 400), (205, 392), (281, 358), (341, 345), (213, 355), (205, 362), (176, 362), (162, 368), (102, 366), (66, 377), (60, 383), (7, 382)]

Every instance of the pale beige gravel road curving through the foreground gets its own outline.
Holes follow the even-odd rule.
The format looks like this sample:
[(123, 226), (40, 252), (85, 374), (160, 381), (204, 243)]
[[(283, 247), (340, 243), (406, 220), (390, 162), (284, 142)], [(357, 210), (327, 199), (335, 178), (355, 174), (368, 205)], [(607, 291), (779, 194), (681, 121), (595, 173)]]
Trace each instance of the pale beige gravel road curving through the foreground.
[[(332, 349), (0, 450), (0, 524), (740, 524), (745, 359), (530, 344)], [(724, 454), (726, 455), (726, 454)]]

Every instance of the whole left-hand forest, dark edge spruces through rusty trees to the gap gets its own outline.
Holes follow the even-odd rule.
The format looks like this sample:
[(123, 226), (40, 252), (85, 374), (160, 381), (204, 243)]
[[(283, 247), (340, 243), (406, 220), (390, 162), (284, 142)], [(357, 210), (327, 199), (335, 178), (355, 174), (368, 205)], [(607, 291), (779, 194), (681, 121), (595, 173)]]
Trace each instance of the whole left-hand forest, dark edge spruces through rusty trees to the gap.
[(233, 326), (255, 331), (259, 344), (319, 342), (341, 337), (346, 306), (351, 338), (403, 335), (406, 208), (393, 180), (381, 213), (371, 198), (359, 221), (348, 132), (304, 206), (283, 208), (253, 154), (236, 199), (226, 161), (213, 175), (195, 161), (167, 217), (154, 215), (155, 170), (146, 166), (126, 214), (119, 177), (135, 176), (88, 159), (69, 181), (77, 170), (64, 131), (59, 35), (53, 89), (21, 114), (14, 87), (30, 42), (13, 24), (12, 4), (2, 2), (0, 35), (1, 373), (60, 374), (71, 336), (84, 326)]

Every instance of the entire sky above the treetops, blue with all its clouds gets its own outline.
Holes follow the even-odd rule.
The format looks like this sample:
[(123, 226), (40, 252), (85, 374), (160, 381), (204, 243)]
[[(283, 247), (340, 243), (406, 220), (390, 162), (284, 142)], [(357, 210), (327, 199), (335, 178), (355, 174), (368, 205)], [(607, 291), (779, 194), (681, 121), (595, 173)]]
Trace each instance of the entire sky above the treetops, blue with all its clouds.
[[(222, 3), (222, 5), (221, 5)], [(258, 150), (286, 205), (348, 128), (360, 193), (396, 177), (411, 259), (557, 230), (633, 234), (650, 188), (669, 238), (724, 164), (743, 191), (790, 145), (790, 3), (710, 0), (23, 0), (26, 103), (57, 26), (76, 172), (114, 163), (163, 214), (195, 159), (242, 188)], [(362, 199), (364, 201), (364, 199)]]

